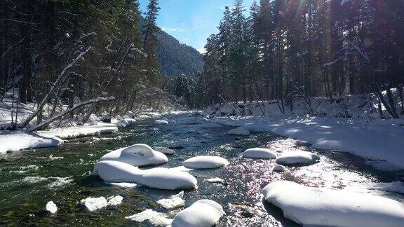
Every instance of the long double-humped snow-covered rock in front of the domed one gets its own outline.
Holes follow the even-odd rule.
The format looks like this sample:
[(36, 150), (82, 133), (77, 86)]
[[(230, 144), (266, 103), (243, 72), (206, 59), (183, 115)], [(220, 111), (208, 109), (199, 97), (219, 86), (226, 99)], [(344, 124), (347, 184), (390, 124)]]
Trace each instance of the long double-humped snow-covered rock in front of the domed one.
[(187, 172), (166, 168), (140, 170), (133, 165), (114, 160), (101, 161), (94, 169), (106, 182), (128, 182), (142, 184), (150, 188), (167, 190), (196, 188), (195, 177)]

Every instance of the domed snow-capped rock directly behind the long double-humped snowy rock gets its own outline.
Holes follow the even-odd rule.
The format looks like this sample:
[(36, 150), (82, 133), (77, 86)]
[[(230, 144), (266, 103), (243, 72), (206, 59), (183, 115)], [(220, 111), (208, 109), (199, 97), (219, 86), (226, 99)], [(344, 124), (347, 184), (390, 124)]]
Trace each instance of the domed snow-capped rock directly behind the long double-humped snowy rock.
[(146, 144), (135, 144), (109, 152), (100, 158), (100, 161), (102, 160), (116, 160), (134, 166), (142, 166), (167, 163), (168, 158)]

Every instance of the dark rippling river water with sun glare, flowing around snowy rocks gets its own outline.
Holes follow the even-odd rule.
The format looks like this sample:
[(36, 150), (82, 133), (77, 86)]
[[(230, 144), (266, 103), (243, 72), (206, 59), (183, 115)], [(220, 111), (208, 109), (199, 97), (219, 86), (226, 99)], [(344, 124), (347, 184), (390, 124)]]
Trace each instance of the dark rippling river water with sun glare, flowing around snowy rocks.
[[(253, 133), (248, 137), (226, 135), (229, 128), (201, 129), (184, 125), (194, 116), (167, 116), (170, 125), (133, 125), (111, 135), (71, 139), (50, 149), (20, 151), (0, 156), (0, 226), (149, 226), (125, 219), (144, 209), (166, 212), (173, 217), (180, 209), (166, 211), (156, 204), (178, 191), (163, 191), (138, 186), (119, 188), (89, 176), (101, 156), (114, 149), (143, 143), (152, 147), (183, 146), (161, 167), (180, 166), (198, 155), (222, 156), (231, 163), (215, 170), (194, 170), (198, 189), (185, 191), (185, 207), (196, 200), (219, 202), (227, 213), (218, 226), (296, 226), (283, 218), (280, 209), (263, 204), (261, 191), (269, 182), (290, 180), (307, 186), (337, 188), (383, 195), (404, 201), (404, 172), (382, 172), (365, 165), (365, 160), (348, 153), (313, 151), (321, 162), (304, 167), (289, 167), (290, 172), (272, 172), (274, 160), (241, 158), (251, 147), (271, 147), (277, 151), (310, 151), (307, 144), (271, 133)], [(224, 184), (212, 184), (208, 178), (220, 177)], [(380, 184), (380, 183), (388, 184)], [(83, 198), (123, 196), (116, 209), (86, 213), (77, 205)], [(42, 211), (53, 200), (58, 213)], [(203, 212), (203, 211), (201, 211)]]

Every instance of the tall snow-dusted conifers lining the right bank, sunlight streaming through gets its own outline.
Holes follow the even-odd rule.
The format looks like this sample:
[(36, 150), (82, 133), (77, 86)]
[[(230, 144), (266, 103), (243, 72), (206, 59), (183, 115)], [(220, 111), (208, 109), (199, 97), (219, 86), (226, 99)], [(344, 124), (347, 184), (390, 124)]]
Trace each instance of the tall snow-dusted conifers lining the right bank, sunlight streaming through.
[(381, 112), (404, 114), (403, 1), (261, 0), (245, 14), (236, 0), (208, 39), (202, 104), (278, 99), (285, 112), (374, 92)]

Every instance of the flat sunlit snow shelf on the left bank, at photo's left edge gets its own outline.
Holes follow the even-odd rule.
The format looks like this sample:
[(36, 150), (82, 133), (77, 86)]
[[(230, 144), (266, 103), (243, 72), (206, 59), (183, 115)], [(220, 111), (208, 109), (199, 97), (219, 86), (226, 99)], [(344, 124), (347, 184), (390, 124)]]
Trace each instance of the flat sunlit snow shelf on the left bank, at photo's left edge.
[(62, 139), (43, 133), (0, 132), (0, 154), (7, 151), (59, 146)]

